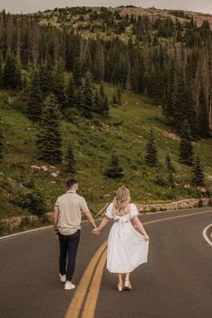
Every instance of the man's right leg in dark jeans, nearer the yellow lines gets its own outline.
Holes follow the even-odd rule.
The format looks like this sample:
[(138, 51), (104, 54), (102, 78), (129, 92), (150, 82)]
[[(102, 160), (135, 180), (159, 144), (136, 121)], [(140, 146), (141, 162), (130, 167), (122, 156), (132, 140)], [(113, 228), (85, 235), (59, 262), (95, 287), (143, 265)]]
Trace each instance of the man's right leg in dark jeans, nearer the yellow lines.
[(68, 242), (68, 254), (67, 254), (67, 270), (66, 270), (66, 280), (71, 281), (75, 271), (75, 258), (78, 250), (78, 245), (80, 241), (80, 230), (75, 234), (69, 235)]

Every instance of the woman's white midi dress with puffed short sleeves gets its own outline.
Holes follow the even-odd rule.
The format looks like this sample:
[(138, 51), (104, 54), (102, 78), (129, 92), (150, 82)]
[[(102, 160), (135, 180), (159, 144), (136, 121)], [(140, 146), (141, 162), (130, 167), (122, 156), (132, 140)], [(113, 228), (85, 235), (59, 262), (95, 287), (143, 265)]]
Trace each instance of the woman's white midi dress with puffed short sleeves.
[(131, 223), (138, 215), (137, 206), (130, 204), (129, 210), (127, 215), (117, 216), (110, 203), (105, 214), (114, 220), (108, 240), (107, 269), (111, 273), (129, 273), (147, 262), (149, 241)]

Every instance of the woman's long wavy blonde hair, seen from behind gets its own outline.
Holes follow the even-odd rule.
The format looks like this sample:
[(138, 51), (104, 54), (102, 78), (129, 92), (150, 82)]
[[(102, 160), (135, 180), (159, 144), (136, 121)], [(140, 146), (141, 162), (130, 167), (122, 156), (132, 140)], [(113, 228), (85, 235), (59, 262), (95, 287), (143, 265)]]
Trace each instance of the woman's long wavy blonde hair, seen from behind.
[(116, 196), (113, 199), (113, 211), (118, 216), (125, 216), (128, 214), (128, 205), (130, 202), (130, 194), (129, 190), (126, 187), (120, 187), (117, 192)]

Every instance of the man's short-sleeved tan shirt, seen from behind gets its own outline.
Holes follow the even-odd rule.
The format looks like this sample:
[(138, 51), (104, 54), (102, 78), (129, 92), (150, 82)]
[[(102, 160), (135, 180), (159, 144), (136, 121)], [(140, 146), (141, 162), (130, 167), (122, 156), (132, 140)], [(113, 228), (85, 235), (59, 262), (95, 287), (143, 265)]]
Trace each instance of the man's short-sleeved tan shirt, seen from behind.
[(58, 211), (57, 228), (64, 235), (75, 234), (81, 229), (82, 214), (89, 211), (85, 199), (71, 190), (57, 198), (55, 208)]

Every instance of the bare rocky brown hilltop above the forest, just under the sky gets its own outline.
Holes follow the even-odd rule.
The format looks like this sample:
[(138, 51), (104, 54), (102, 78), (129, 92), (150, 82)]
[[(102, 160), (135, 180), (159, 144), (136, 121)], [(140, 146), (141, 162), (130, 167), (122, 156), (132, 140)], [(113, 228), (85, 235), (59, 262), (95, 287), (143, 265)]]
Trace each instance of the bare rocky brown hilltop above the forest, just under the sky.
[[(197, 13), (183, 10), (167, 10), (157, 9), (155, 7), (142, 8), (136, 6), (120, 6), (114, 8), (102, 8), (102, 7), (65, 7), (55, 8), (54, 10), (46, 10), (44, 12), (35, 13), (37, 21), (40, 25), (52, 25), (57, 28), (66, 27), (73, 28), (75, 31), (79, 31), (84, 38), (96, 38), (102, 37), (104, 39), (110, 36), (119, 36), (121, 40), (128, 40), (132, 37), (133, 26), (131, 23), (128, 24), (124, 30), (116, 30), (114, 25), (109, 27), (106, 20), (105, 13), (113, 15), (113, 19), (116, 21), (116, 25), (119, 24), (121, 19), (127, 16), (147, 16), (151, 21), (155, 22), (156, 19), (171, 19), (175, 22), (176, 19), (186, 24), (190, 21), (191, 16), (197, 25), (201, 25), (202, 22), (208, 21), (212, 25), (212, 15), (206, 13)], [(34, 13), (31, 13), (34, 14)], [(102, 30), (102, 24), (104, 25)]]

